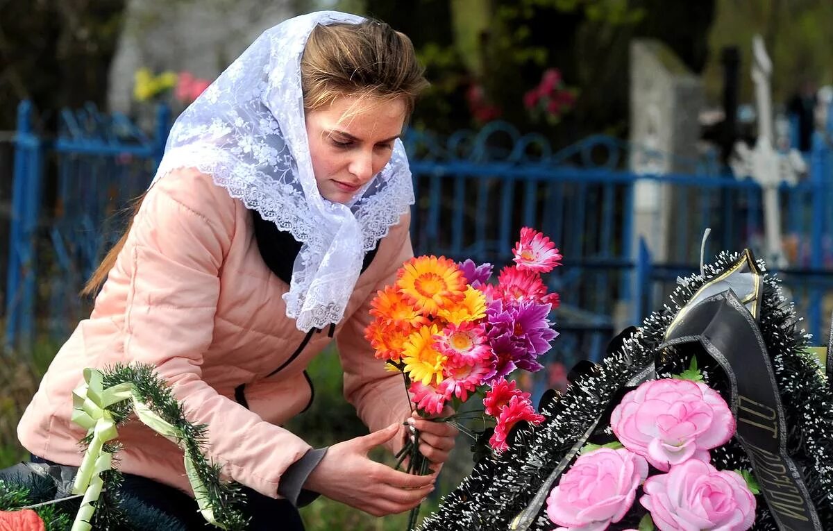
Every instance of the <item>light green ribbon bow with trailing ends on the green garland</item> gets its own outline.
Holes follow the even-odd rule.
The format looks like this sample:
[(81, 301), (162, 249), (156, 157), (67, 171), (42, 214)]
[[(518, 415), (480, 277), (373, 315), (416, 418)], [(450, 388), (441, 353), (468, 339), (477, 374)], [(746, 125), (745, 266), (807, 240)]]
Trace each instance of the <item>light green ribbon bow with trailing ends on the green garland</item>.
[[(184, 439), (176, 427), (136, 398), (131, 383), (124, 382), (104, 389), (102, 380), (102, 373), (98, 370), (85, 369), (84, 383), (72, 391), (72, 421), (86, 428), (87, 434), (92, 434), (92, 441), (87, 446), (87, 452), (84, 454), (81, 467), (75, 476), (75, 483), (72, 485), (72, 494), (83, 494), (84, 497), (81, 508), (78, 509), (78, 514), (72, 523), (71, 531), (92, 529), (90, 522), (95, 512), (95, 502), (103, 487), (99, 474), (112, 468), (112, 454), (102, 450), (104, 443), (118, 436), (116, 422), (112, 419), (112, 414), (107, 411), (109, 406), (130, 399), (133, 411), (143, 424), (174, 443), (179, 444), (179, 441)], [(185, 470), (202, 517), (210, 524), (226, 529), (217, 524), (217, 519), (214, 518), (214, 511), (208, 504), (207, 489), (199, 478), (187, 449), (185, 450)]]

